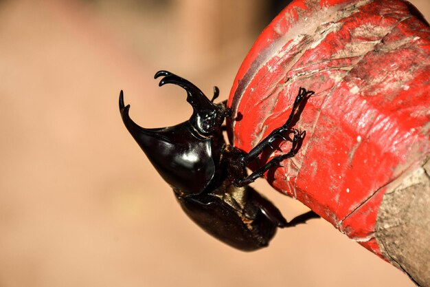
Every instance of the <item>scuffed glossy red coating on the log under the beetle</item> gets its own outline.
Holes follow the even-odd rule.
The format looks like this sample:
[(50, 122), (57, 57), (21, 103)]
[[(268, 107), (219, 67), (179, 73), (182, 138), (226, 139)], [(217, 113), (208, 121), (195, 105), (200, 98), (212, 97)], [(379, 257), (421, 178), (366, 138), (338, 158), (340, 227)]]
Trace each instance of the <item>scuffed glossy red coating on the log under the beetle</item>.
[(411, 13), (400, 0), (293, 1), (251, 48), (229, 98), (242, 114), (229, 138), (249, 151), (284, 123), (299, 87), (315, 91), (297, 123), (302, 149), (267, 180), (379, 255), (385, 186), (430, 153), (430, 28)]

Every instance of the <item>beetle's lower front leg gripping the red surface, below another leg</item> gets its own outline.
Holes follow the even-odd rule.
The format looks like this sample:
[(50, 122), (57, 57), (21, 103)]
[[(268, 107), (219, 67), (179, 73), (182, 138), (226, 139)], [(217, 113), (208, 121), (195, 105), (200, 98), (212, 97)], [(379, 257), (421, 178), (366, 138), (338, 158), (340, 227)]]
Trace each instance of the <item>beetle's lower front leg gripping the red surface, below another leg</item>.
[(302, 143), (302, 140), (304, 138), (304, 131), (298, 131), (297, 129), (293, 129), (294, 138), (293, 138), (293, 146), (291, 147), (290, 151), (288, 153), (284, 153), (280, 156), (275, 156), (272, 158), (267, 164), (264, 164), (262, 167), (251, 173), (246, 178), (243, 178), (242, 180), (234, 180), (233, 184), (236, 187), (243, 187), (247, 184), (250, 184), (251, 182), (254, 182), (257, 178), (260, 178), (264, 175), (266, 171), (271, 169), (272, 167), (279, 167), (280, 162), (285, 160), (286, 158), (293, 158), (297, 151), (299, 151), (300, 144)]

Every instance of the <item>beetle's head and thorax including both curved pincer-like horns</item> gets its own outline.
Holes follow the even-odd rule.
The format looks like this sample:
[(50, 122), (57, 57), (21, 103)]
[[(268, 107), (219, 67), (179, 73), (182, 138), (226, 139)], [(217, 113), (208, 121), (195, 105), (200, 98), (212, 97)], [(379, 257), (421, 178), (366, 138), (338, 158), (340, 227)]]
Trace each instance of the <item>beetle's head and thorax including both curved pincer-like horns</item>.
[(122, 120), (152, 165), (174, 190), (199, 194), (216, 177), (216, 164), (223, 144), (221, 125), (229, 116), (229, 109), (224, 103), (212, 103), (218, 96), (217, 88), (209, 100), (198, 87), (175, 74), (159, 71), (155, 78), (159, 76), (163, 76), (160, 86), (172, 83), (185, 89), (187, 101), (193, 108), (190, 120), (173, 127), (139, 127), (128, 115), (130, 105), (124, 105), (121, 91)]

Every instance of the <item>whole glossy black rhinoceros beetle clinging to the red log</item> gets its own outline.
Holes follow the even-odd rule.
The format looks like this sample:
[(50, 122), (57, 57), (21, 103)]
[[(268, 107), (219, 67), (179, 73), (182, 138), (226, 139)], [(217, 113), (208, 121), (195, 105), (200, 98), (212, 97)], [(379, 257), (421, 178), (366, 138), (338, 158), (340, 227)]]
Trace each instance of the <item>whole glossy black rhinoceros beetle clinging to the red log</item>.
[[(173, 127), (145, 129), (128, 115), (120, 92), (120, 112), (126, 128), (143, 149), (161, 177), (170, 184), (183, 211), (207, 233), (242, 251), (267, 246), (277, 227), (294, 226), (317, 217), (312, 211), (286, 222), (280, 211), (248, 184), (286, 158), (295, 156), (305, 136), (291, 127), (299, 107), (314, 94), (299, 89), (293, 109), (285, 124), (269, 134), (249, 153), (227, 145), (223, 122), (231, 116), (226, 103), (215, 104), (218, 88), (209, 100), (201, 90), (175, 74), (159, 71), (159, 86), (179, 85), (187, 92), (193, 108), (189, 120)], [(288, 153), (275, 156), (249, 176), (246, 167), (266, 149), (273, 149), (276, 139), (292, 134)]]

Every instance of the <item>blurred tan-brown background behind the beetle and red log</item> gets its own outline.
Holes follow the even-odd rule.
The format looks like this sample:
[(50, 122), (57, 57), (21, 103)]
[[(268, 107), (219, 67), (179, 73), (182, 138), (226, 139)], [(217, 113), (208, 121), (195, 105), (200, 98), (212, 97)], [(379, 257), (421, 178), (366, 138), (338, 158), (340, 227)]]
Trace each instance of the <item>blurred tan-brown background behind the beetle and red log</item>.
[[(427, 0), (412, 1), (429, 19)], [(191, 108), (171, 70), (227, 98), (264, 0), (0, 1), (0, 287), (414, 286), (324, 220), (236, 251), (188, 220), (120, 119)], [(254, 184), (288, 220), (306, 208)]]

